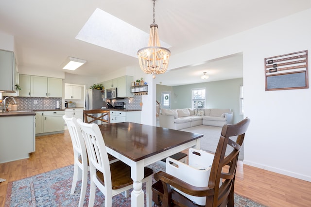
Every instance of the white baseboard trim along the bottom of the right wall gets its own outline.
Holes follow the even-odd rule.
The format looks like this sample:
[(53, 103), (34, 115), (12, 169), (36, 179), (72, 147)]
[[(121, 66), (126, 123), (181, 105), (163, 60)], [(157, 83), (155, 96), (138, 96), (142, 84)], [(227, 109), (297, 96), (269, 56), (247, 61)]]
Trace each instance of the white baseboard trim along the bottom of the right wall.
[(302, 175), (302, 174), (295, 173), (295, 172), (292, 172), (292, 171), (287, 171), (287, 170), (283, 170), (283, 169), (280, 169), (280, 168), (263, 165), (263, 164), (260, 164), (258, 162), (252, 162), (252, 161), (248, 161), (248, 160), (245, 160), (245, 159), (243, 160), (243, 164), (250, 165), (250, 166), (253, 166), (253, 167), (257, 167), (257, 168), (260, 168), (260, 169), (263, 169), (263, 170), (271, 171), (271, 172), (274, 172), (274, 173), (278, 173), (278, 174), (281, 174), (281, 175), (287, 175), (287, 176), (290, 176), (290, 177), (294, 177), (294, 178), (297, 178), (297, 179), (301, 179), (301, 180), (305, 180), (305, 181), (311, 182), (311, 176), (308, 176), (308, 175)]

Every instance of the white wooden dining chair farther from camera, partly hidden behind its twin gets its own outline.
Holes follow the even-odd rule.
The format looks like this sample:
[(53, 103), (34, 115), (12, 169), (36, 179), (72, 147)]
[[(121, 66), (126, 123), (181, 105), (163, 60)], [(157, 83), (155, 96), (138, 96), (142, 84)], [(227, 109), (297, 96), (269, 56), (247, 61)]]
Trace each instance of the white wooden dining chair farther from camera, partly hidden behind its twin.
[(63, 116), (63, 119), (65, 120), (66, 125), (68, 127), (74, 155), (74, 170), (70, 194), (74, 193), (77, 181), (81, 180), (82, 178), (80, 200), (79, 200), (79, 207), (82, 207), (86, 196), (87, 172), (88, 172), (86, 145), (82, 136), (81, 128), (77, 123), (77, 119), (74, 117), (69, 118), (66, 115)]

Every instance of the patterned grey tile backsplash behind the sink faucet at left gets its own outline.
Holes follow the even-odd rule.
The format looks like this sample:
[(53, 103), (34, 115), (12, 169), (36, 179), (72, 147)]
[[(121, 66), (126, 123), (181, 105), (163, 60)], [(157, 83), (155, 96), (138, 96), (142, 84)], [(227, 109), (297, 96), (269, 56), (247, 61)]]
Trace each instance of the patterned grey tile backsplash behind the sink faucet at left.
[[(62, 109), (62, 98), (42, 98), (42, 97), (14, 97), (17, 102), (17, 110), (51, 110), (56, 109), (56, 102)], [(4, 97), (3, 97), (4, 99)], [(14, 104), (12, 98), (6, 100), (7, 104)], [(36, 103), (35, 103), (36, 102)]]

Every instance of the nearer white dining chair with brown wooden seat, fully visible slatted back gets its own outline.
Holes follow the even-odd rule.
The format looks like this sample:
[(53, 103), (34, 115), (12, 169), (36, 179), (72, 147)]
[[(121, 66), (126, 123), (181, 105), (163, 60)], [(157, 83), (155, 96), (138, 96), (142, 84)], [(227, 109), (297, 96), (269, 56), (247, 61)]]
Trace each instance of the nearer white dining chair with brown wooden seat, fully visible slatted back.
[[(77, 120), (83, 132), (90, 167), (89, 207), (93, 207), (96, 187), (105, 196), (105, 207), (112, 206), (112, 196), (133, 188), (131, 168), (122, 161), (109, 163), (106, 146), (97, 124)], [(153, 170), (145, 167), (143, 183), (146, 183), (147, 207), (151, 207)]]

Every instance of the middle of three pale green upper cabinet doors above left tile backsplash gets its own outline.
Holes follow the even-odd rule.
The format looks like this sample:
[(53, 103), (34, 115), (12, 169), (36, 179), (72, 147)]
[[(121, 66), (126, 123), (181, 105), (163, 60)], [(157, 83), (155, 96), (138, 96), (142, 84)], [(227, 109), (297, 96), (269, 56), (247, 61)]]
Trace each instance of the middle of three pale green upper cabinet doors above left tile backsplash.
[(48, 97), (48, 77), (31, 76), (31, 96)]

